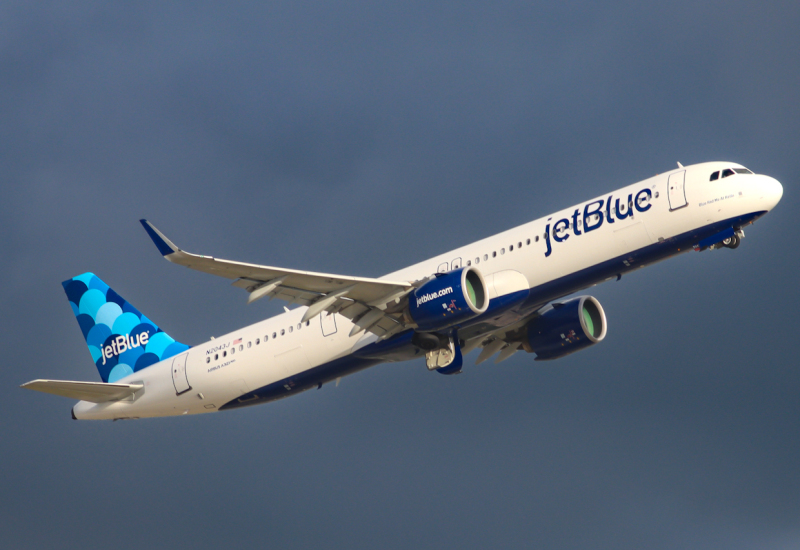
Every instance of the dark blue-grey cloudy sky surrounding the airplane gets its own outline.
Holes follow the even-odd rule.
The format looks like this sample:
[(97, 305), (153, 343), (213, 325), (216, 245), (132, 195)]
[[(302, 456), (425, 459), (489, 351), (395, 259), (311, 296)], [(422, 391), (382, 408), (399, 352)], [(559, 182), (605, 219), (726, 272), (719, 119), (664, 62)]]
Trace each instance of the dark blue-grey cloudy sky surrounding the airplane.
[[(0, 4), (8, 548), (800, 547), (800, 4)], [(606, 340), (75, 422), (60, 282), (195, 344), (280, 311), (179, 246), (379, 276), (683, 164), (784, 185), (736, 251), (592, 293)]]

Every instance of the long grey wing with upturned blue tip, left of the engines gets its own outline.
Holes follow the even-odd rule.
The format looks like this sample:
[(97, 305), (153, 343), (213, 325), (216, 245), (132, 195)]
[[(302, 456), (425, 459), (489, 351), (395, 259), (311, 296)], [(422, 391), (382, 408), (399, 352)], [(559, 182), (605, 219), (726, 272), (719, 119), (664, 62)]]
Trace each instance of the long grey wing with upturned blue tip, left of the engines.
[(247, 303), (260, 298), (280, 298), (308, 306), (303, 322), (327, 311), (352, 320), (353, 334), (366, 330), (383, 338), (410, 328), (401, 310), (410, 282), (385, 281), (314, 273), (279, 267), (233, 262), (181, 250), (147, 220), (140, 220), (159, 252), (178, 265), (234, 279), (233, 285), (250, 293)]

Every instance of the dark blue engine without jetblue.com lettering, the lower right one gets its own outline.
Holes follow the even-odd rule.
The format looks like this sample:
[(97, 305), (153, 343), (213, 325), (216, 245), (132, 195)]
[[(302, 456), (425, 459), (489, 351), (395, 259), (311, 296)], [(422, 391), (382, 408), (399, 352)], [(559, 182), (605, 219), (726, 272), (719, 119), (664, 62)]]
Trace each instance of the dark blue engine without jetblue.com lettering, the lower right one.
[(537, 361), (558, 359), (606, 337), (606, 314), (592, 296), (555, 303), (528, 324), (523, 348)]

